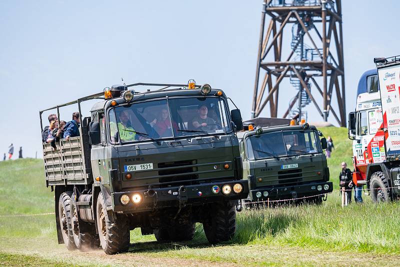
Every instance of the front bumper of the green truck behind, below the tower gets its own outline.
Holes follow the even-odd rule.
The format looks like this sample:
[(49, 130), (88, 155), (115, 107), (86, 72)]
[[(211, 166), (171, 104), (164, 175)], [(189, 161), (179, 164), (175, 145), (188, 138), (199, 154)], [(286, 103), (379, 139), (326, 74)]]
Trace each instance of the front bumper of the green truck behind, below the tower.
[[(324, 189), (325, 184), (329, 186), (327, 190)], [(322, 186), (321, 190), (318, 190), (318, 185)], [(333, 185), (331, 181), (317, 181), (301, 185), (259, 187), (254, 190), (250, 190), (250, 192), (248, 193), (248, 198), (251, 201), (291, 199), (303, 196), (330, 193), (332, 190)], [(260, 197), (257, 197), (257, 192), (261, 192)], [(267, 192), (265, 193), (267, 194), (266, 196), (264, 196), (264, 192)]]

